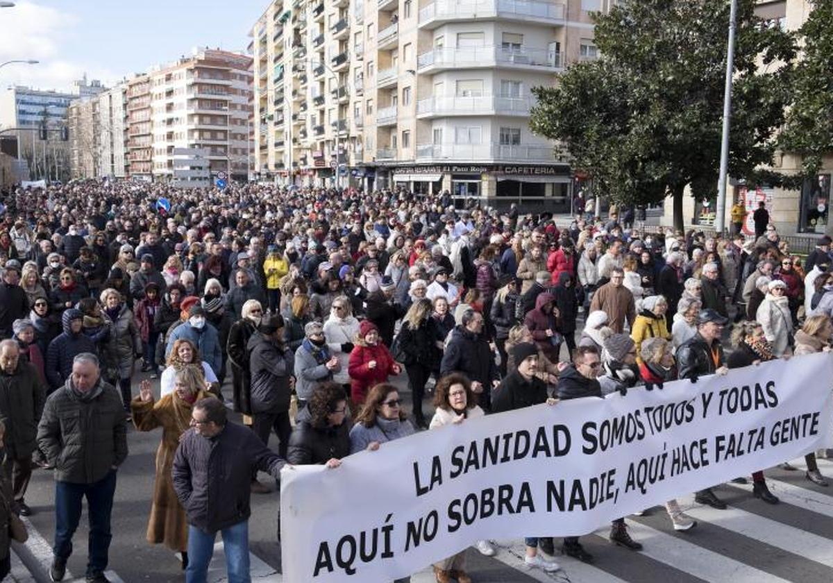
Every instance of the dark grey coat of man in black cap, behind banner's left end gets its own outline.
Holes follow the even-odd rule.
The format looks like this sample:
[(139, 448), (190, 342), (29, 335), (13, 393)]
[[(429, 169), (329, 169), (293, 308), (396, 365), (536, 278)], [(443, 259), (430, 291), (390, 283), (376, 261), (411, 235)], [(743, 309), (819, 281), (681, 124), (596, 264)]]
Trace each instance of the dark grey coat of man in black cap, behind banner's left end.
[(259, 331), (252, 334), (247, 347), (252, 375), (252, 413), (289, 411), (292, 396), (289, 378), (295, 371), (292, 350), (277, 346)]

